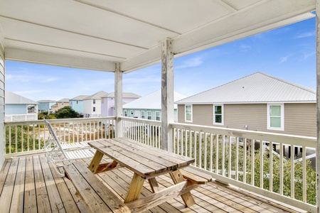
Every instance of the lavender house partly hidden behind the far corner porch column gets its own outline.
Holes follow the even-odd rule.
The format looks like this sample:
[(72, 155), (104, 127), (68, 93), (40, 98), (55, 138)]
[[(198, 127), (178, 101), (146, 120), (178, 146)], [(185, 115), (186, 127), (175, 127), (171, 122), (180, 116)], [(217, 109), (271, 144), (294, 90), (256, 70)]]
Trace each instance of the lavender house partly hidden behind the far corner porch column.
[[(132, 102), (139, 97), (141, 96), (132, 92), (123, 92), (122, 104)], [(101, 97), (101, 116), (114, 116), (114, 92)]]

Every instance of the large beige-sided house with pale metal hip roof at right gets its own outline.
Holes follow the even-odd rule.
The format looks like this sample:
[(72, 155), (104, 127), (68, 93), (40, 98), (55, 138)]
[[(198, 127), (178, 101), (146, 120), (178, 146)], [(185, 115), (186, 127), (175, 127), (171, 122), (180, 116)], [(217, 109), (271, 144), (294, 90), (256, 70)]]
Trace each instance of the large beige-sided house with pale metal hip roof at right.
[(179, 123), (316, 137), (316, 91), (262, 72), (176, 104)]

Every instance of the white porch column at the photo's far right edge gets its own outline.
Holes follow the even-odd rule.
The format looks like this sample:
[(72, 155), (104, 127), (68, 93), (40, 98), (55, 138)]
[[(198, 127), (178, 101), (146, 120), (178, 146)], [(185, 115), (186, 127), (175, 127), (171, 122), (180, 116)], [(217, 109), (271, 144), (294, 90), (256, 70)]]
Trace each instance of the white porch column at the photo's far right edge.
[(320, 0), (316, 0), (316, 206), (320, 212)]

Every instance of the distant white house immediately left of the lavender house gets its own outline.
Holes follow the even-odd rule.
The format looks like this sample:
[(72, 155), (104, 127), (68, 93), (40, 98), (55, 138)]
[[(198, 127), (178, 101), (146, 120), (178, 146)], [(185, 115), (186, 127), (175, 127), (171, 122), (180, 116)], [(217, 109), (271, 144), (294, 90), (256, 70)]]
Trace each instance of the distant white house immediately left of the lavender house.
[(100, 91), (83, 99), (83, 117), (97, 118), (101, 117), (101, 97), (108, 93)]

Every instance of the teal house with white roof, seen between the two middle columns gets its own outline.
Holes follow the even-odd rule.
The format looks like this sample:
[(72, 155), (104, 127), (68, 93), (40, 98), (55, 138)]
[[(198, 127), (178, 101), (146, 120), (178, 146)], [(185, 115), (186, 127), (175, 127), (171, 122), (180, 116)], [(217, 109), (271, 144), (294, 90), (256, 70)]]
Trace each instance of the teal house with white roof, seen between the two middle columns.
[[(174, 92), (174, 102), (186, 96)], [(177, 107), (174, 104), (174, 121), (177, 121)], [(123, 105), (123, 116), (161, 121), (161, 89)]]

